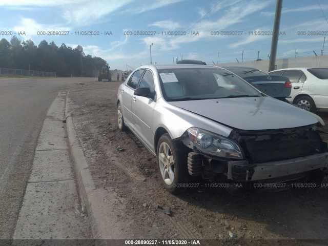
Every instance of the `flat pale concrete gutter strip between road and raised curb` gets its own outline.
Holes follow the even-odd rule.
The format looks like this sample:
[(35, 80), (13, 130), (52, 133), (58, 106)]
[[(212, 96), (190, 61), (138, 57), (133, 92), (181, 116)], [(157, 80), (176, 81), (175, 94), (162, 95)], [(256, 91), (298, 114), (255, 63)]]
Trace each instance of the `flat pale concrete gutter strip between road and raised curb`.
[(90, 239), (63, 123), (65, 99), (66, 93), (59, 92), (44, 120), (13, 245), (25, 245), (22, 239)]

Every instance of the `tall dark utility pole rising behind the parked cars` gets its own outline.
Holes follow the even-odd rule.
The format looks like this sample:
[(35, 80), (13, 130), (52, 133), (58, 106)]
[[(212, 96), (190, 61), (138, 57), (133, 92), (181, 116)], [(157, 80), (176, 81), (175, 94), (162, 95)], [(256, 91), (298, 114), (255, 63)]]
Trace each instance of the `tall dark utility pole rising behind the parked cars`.
[(270, 52), (271, 59), (269, 63), (269, 72), (275, 70), (281, 9), (282, 9), (282, 0), (277, 0), (275, 22), (273, 25), (273, 35), (272, 35), (272, 42), (271, 42), (271, 52)]

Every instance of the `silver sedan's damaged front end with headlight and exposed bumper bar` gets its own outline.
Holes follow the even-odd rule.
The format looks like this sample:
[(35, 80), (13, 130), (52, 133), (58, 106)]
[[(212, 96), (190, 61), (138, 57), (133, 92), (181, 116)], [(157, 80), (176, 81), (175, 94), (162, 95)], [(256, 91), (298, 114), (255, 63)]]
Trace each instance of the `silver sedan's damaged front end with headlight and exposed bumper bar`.
[(316, 125), (276, 130), (237, 130), (228, 137), (188, 129), (183, 143), (191, 176), (217, 182), (281, 183), (293, 180), (321, 182), (327, 175), (327, 143)]

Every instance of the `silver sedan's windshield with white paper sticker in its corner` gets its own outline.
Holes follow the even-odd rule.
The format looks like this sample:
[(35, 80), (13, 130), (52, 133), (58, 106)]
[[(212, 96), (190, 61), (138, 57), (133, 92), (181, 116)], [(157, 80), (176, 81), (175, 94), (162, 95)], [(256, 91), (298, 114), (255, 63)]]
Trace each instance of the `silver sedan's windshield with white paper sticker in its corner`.
[(167, 101), (261, 96), (247, 82), (223, 69), (159, 69), (158, 74)]

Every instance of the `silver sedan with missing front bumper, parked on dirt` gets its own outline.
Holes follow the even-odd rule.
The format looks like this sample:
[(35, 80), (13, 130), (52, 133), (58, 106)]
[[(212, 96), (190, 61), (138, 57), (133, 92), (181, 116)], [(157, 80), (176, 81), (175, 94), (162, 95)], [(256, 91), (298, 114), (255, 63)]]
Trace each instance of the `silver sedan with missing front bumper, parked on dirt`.
[(269, 97), (235, 74), (206, 65), (137, 68), (117, 93), (118, 128), (156, 156), (171, 193), (201, 176), (225, 187), (291, 180), (321, 182), (327, 172), (323, 120)]

